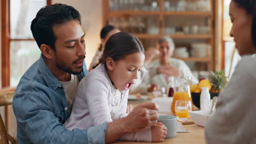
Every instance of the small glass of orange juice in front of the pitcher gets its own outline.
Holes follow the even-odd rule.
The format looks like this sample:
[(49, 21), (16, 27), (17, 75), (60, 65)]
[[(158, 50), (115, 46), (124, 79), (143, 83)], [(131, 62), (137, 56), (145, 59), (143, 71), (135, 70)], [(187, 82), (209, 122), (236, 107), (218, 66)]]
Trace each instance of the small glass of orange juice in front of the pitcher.
[(175, 103), (175, 113), (178, 121), (185, 122), (190, 118), (189, 111), (192, 110), (192, 105), (190, 100), (176, 100)]

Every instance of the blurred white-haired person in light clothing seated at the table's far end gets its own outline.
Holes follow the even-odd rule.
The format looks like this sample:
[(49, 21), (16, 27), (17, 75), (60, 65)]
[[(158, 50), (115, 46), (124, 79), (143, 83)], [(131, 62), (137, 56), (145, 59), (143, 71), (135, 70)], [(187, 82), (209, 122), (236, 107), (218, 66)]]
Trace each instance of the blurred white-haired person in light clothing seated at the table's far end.
[(147, 93), (152, 91), (152, 88), (154, 88), (152, 84), (158, 85), (158, 87), (167, 87), (172, 76), (191, 77), (192, 83), (198, 83), (184, 61), (171, 58), (175, 48), (172, 38), (166, 36), (159, 39), (157, 47), (160, 57), (148, 64), (149, 74), (144, 78), (141, 86), (137, 88), (138, 92)]

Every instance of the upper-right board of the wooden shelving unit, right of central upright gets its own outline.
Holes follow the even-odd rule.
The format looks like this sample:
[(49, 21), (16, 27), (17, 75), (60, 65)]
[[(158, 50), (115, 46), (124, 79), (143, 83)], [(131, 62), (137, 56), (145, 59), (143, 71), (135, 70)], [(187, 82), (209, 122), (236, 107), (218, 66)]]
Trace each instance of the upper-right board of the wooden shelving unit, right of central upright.
[(203, 11), (164, 11), (164, 15), (212, 16), (212, 13)]

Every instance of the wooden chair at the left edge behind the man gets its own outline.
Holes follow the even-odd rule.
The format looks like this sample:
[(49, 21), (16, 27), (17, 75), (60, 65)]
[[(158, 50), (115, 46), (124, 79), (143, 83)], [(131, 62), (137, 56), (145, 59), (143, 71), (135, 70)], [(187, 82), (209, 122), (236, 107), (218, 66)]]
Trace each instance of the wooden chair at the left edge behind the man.
[[(7, 105), (13, 104), (13, 95), (14, 95), (14, 91), (11, 91), (11, 92), (0, 91), (0, 106), (7, 106)], [(7, 129), (5, 129), (5, 125), (4, 125), (1, 113), (0, 113), (0, 135), (2, 139), (1, 143), (3, 144), (8, 144), (9, 141), (13, 144), (18, 143), (12, 136), (10, 136), (7, 133)]]

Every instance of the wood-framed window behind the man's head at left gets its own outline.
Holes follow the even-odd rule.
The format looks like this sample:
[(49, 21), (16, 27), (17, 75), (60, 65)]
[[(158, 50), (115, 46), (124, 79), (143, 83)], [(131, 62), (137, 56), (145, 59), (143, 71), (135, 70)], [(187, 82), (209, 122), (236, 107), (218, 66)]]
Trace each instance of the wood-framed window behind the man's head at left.
[[(38, 10), (50, 0), (4, 0), (2, 26), (2, 85), (16, 87), (21, 76), (40, 56), (30, 25)], [(3, 10), (2, 10), (3, 13)], [(3, 35), (3, 34), (2, 34)]]

